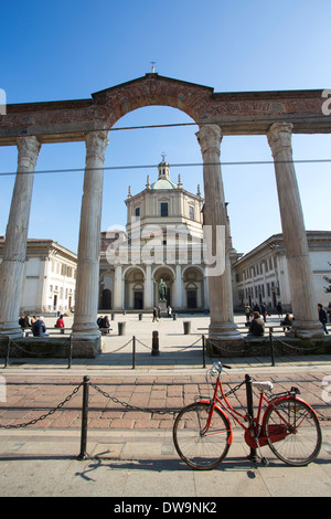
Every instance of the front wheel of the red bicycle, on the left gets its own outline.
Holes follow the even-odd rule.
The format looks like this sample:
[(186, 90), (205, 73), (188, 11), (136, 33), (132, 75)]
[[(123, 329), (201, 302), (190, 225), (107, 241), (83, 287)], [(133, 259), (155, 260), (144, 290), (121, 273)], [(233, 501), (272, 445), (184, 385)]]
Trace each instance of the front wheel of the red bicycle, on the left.
[(173, 425), (173, 443), (179, 456), (199, 470), (215, 468), (229, 448), (231, 425), (217, 409), (211, 417), (211, 404), (196, 402), (184, 407)]

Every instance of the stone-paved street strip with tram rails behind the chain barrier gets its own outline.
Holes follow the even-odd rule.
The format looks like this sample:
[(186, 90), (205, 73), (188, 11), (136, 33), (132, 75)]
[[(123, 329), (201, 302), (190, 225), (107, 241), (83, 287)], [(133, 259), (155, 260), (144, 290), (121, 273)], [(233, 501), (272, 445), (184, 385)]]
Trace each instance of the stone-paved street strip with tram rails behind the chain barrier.
[[(200, 370), (201, 371), (201, 370)], [(245, 370), (223, 377), (226, 391), (244, 379)], [(274, 368), (270, 370), (247, 369), (254, 379), (273, 380), (274, 392), (289, 390), (291, 385), (299, 388), (301, 398), (316, 407), (323, 425), (329, 425), (331, 406), (323, 400), (328, 398), (325, 381), (330, 375), (328, 367), (318, 370), (309, 368), (290, 372)], [(109, 373), (89, 375), (88, 428), (171, 428), (173, 412), (188, 405), (196, 395), (210, 395), (211, 384), (205, 373), (178, 374), (124, 374)], [(3, 377), (3, 375), (2, 375)], [(330, 377), (331, 380), (331, 377)], [(0, 409), (0, 425), (18, 425), (30, 423), (44, 416), (50, 410), (51, 415), (26, 426), (32, 428), (72, 428), (79, 430), (82, 421), (82, 377), (74, 373), (63, 377), (41, 374), (6, 374), (6, 402)], [(96, 388), (95, 388), (96, 386)], [(73, 391), (77, 393), (62, 404)], [(99, 390), (99, 391), (98, 391)], [(331, 396), (331, 392), (330, 392)], [(245, 409), (245, 385), (231, 398), (235, 407)]]

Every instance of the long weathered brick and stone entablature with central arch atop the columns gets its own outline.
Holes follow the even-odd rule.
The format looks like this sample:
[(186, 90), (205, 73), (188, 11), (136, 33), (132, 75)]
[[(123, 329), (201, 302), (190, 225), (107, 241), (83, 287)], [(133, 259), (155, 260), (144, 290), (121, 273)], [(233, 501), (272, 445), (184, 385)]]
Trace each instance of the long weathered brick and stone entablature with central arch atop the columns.
[(223, 135), (265, 135), (275, 123), (291, 123), (298, 134), (330, 133), (322, 93), (215, 93), (209, 86), (146, 74), (87, 99), (8, 105), (7, 116), (0, 117), (0, 146), (15, 146), (19, 136), (28, 135), (41, 144), (85, 140), (86, 133), (111, 129), (124, 115), (148, 105), (178, 108), (200, 126), (220, 125)]

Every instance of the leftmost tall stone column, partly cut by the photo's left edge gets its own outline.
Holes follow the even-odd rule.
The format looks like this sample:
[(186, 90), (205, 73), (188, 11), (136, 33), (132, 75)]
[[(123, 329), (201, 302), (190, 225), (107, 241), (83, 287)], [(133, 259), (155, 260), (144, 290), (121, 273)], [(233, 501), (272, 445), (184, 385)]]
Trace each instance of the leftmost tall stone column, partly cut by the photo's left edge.
[(10, 337), (22, 336), (19, 313), (23, 294), (33, 177), (40, 148), (34, 136), (18, 139), (18, 172), (0, 266), (0, 335)]

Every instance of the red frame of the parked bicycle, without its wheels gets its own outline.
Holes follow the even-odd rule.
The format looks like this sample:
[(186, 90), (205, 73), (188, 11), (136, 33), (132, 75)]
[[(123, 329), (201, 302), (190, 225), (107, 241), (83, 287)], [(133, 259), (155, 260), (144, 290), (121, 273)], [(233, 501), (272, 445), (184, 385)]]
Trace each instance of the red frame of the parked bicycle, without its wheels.
[[(264, 445), (267, 445), (268, 441), (270, 441), (273, 443), (279, 442), (279, 441), (284, 439), (287, 435), (293, 434), (296, 432), (293, 426), (289, 422), (287, 422), (284, 419), (284, 416), (280, 415), (280, 413), (278, 413), (277, 409), (275, 407), (275, 404), (277, 402), (279, 402), (279, 400), (286, 401), (286, 400), (292, 399), (293, 394), (296, 395), (295, 398), (298, 401), (303, 402), (301, 399), (297, 398), (298, 390), (292, 388), (291, 391), (282, 393), (281, 395), (280, 394), (275, 395), (271, 400), (268, 400), (265, 396), (264, 391), (261, 390), (260, 394), (259, 394), (257, 415), (256, 415), (256, 417), (254, 417), (254, 416), (249, 416), (248, 414), (242, 414), (238, 411), (236, 411), (235, 409), (233, 409), (233, 406), (227, 401), (226, 395), (224, 393), (223, 385), (222, 385), (222, 382), (220, 380), (220, 374), (221, 374), (221, 372), (217, 375), (216, 385), (215, 385), (215, 390), (214, 390), (214, 395), (213, 395), (212, 400), (210, 400), (210, 399), (209, 400), (200, 399), (201, 403), (211, 404), (209, 419), (207, 419), (207, 422), (206, 422), (206, 426), (202, 431), (202, 435), (209, 434), (207, 431), (210, 428), (215, 407), (218, 409), (218, 411), (225, 416), (225, 419), (228, 423), (228, 430), (229, 430), (231, 434), (228, 436), (227, 442), (228, 442), (229, 445), (232, 445), (232, 441), (233, 441), (233, 430), (232, 430), (232, 425), (231, 425), (231, 422), (228, 420), (227, 414), (229, 414), (232, 416), (232, 419), (245, 431), (245, 434), (244, 434), (245, 442), (252, 448), (258, 448), (258, 447), (261, 447)], [(217, 395), (218, 391), (220, 391), (220, 393), (222, 395), (222, 399), (224, 400), (225, 403), (223, 403), (222, 400), (218, 398), (218, 395)], [(261, 420), (261, 407), (263, 407), (264, 402), (267, 404), (267, 407), (264, 411), (264, 415), (263, 415), (263, 420)], [(266, 435), (265, 423), (266, 423), (266, 417), (268, 415), (268, 412), (269, 412), (270, 407), (273, 407), (275, 410), (275, 412), (279, 415), (280, 421), (282, 423), (277, 424), (277, 425), (271, 425), (269, 427), (271, 434), (269, 434), (267, 436)], [(248, 425), (245, 425), (244, 422), (248, 422)], [(211, 434), (217, 434), (217, 432), (214, 431)]]

